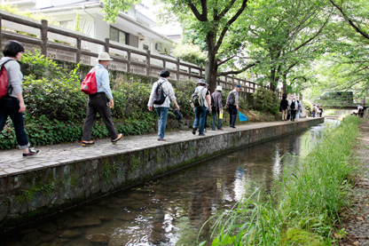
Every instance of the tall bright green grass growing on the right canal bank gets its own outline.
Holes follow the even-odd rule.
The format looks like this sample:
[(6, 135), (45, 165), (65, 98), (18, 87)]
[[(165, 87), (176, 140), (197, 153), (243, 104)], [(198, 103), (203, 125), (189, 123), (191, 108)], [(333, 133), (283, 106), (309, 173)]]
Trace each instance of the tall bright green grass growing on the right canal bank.
[(338, 127), (328, 128), (318, 146), (299, 161), (299, 168), (285, 171), (275, 192), (255, 191), (232, 210), (212, 218), (211, 245), (334, 243), (332, 234), (340, 210), (348, 206), (359, 123), (356, 116), (348, 116)]

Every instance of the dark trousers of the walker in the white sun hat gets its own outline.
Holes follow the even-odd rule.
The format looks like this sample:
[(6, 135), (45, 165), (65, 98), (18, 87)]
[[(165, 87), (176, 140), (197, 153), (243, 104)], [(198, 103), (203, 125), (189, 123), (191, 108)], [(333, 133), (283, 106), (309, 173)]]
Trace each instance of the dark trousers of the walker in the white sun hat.
[(87, 102), (87, 116), (83, 124), (83, 140), (90, 141), (91, 129), (95, 123), (97, 113), (103, 118), (107, 131), (109, 131), (110, 138), (118, 138), (118, 134), (116, 133), (112, 120), (112, 112), (110, 111), (109, 103), (106, 99), (106, 94), (105, 92), (98, 92), (89, 95), (89, 101)]

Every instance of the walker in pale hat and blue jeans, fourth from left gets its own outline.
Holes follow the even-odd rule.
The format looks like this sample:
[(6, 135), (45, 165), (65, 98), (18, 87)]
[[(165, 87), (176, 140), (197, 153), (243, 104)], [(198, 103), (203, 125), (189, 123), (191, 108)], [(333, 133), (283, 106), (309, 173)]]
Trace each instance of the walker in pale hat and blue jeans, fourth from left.
[(199, 136), (205, 136), (204, 134), (204, 127), (205, 127), (205, 117), (207, 111), (211, 113), (211, 99), (210, 99), (210, 92), (206, 88), (205, 79), (201, 78), (197, 83), (197, 87), (192, 91), (192, 95), (195, 93), (199, 93), (201, 97), (201, 101), (203, 102), (202, 105), (198, 107), (194, 107), (195, 112), (195, 119), (193, 121), (192, 126), (192, 134), (196, 134), (196, 130), (199, 127)]

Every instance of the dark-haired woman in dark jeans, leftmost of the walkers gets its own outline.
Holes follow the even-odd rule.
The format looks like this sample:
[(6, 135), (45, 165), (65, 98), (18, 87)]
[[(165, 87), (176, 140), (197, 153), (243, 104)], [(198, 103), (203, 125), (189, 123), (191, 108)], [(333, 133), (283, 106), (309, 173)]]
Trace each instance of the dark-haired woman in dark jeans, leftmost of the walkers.
[(24, 47), (17, 41), (8, 41), (5, 44), (0, 60), (0, 67), (5, 67), (8, 75), (8, 88), (4, 97), (0, 99), (0, 132), (3, 131), (8, 116), (12, 119), (18, 147), (23, 152), (23, 156), (37, 155), (40, 150), (30, 147), (27, 133), (24, 127), (23, 112), (26, 111), (22, 94), (23, 75), (20, 71), (20, 61), (24, 52)]

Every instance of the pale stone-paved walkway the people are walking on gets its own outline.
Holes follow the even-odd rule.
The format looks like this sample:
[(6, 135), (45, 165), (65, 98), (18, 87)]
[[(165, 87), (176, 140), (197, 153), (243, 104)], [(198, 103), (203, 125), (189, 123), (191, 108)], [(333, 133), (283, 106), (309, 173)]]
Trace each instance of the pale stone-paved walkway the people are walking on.
[[(307, 120), (309, 119), (304, 118), (300, 121)], [(288, 123), (292, 122), (247, 123), (237, 125), (236, 129), (224, 126), (224, 131), (211, 131), (211, 129), (208, 129), (205, 137), (192, 135), (192, 131), (167, 131), (165, 133), (166, 141), (158, 141), (157, 134), (147, 134), (125, 137), (116, 145), (112, 145), (110, 139), (96, 140), (95, 145), (91, 147), (82, 147), (81, 143), (52, 145), (37, 147), (37, 149), (41, 150), (41, 153), (30, 157), (22, 157), (19, 149), (0, 150), (0, 178), (27, 171), (42, 170), (44, 167), (75, 163), (86, 159), (97, 158), (99, 156), (122, 154), (146, 147), (181, 142), (186, 139), (207, 138), (207, 136), (224, 134), (230, 131), (264, 128)]]

